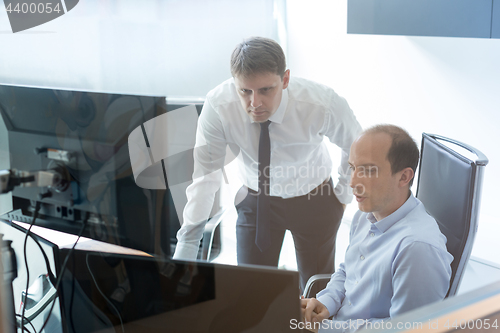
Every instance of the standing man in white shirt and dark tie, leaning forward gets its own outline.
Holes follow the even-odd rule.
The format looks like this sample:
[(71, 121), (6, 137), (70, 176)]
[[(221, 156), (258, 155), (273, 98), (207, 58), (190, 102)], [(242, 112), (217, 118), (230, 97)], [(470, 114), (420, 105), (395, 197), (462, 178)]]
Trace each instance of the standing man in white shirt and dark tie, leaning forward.
[[(208, 93), (199, 118), (196, 147), (204, 149), (195, 149), (174, 259), (196, 258), (229, 145), (239, 150), (244, 184), (235, 201), (238, 263), (276, 267), (288, 229), (303, 288), (311, 275), (334, 271), (335, 238), (352, 197), (349, 149), (361, 127), (331, 88), (291, 78), (274, 40), (252, 37), (237, 45), (231, 73)], [(335, 187), (324, 137), (342, 149)]]

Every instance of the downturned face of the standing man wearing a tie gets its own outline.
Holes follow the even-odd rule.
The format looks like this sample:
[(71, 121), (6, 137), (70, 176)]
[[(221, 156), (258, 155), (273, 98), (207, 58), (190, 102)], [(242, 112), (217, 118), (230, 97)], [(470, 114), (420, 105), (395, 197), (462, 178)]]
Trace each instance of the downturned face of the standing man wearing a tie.
[(234, 83), (245, 111), (253, 121), (262, 123), (278, 109), (289, 80), (290, 70), (287, 70), (283, 80), (275, 73), (258, 73), (249, 77), (238, 75)]

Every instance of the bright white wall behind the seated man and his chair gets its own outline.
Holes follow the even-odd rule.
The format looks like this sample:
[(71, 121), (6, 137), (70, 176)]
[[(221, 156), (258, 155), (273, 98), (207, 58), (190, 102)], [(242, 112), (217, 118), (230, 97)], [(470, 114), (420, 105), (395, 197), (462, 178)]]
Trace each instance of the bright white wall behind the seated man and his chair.
[(363, 127), (441, 134), (488, 156), (473, 255), (500, 262), (500, 40), (348, 35), (346, 0), (289, 0), (287, 13), (292, 75), (331, 86)]

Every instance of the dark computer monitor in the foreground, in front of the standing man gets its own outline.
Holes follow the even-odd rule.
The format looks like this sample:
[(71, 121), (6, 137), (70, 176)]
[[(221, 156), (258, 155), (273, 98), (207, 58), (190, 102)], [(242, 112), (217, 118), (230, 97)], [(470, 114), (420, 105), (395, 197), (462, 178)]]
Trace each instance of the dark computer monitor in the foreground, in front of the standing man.
[[(296, 271), (126, 255), (111, 258), (123, 262), (130, 285), (120, 300), (110, 257), (76, 251), (76, 264), (68, 264), (77, 268), (71, 272), (77, 286), (68, 274), (63, 308), (78, 332), (112, 327), (117, 332), (291, 332), (300, 321)], [(71, 300), (71, 294), (78, 299)], [(79, 316), (95, 313), (95, 307), (107, 318), (106, 324), (92, 315)]]

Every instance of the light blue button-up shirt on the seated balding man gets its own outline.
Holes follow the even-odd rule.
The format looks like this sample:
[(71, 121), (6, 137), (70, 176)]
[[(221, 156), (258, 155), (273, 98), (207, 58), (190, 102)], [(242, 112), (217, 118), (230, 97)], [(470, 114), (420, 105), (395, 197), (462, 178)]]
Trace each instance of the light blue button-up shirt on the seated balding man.
[(358, 211), (349, 237), (345, 262), (317, 294), (334, 316), (319, 332), (370, 328), (446, 296), (453, 256), (436, 221), (413, 195), (380, 221)]

